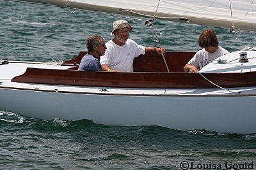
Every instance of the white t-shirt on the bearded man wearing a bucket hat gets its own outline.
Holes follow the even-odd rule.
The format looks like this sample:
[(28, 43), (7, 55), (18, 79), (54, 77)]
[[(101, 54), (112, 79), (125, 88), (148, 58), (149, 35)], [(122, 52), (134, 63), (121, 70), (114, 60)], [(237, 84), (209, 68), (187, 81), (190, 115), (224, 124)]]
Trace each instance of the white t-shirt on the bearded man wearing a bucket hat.
[(111, 69), (132, 72), (133, 59), (145, 54), (146, 47), (138, 45), (135, 41), (127, 39), (125, 45), (116, 45), (112, 39), (106, 43), (105, 55), (100, 56), (100, 64), (106, 64)]

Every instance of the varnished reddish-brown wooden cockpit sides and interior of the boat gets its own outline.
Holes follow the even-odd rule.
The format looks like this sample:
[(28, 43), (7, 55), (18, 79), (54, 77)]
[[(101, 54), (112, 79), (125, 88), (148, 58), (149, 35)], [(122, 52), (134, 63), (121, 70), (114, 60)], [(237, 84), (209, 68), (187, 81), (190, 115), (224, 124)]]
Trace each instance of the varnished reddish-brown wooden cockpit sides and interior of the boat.
[[(75, 59), (64, 64), (80, 63), (86, 52), (80, 52)], [(163, 59), (156, 53), (147, 53), (134, 60), (134, 72), (77, 71), (72, 69), (28, 68), (26, 73), (12, 81), (74, 85), (83, 87), (152, 88), (152, 89), (205, 89), (216, 88), (200, 74), (184, 73), (183, 66), (194, 52), (170, 52), (166, 61), (171, 73), (167, 73)], [(221, 87), (256, 86), (256, 72), (250, 73), (204, 73), (204, 76)]]

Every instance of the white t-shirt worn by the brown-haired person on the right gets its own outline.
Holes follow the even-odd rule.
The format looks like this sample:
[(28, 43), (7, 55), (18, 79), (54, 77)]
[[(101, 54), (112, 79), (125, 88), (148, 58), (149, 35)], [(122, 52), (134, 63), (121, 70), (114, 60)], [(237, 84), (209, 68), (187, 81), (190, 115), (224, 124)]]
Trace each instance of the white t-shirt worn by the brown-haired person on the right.
[(227, 50), (222, 48), (221, 46), (218, 46), (218, 50), (214, 53), (209, 53), (205, 51), (205, 49), (199, 50), (198, 52), (195, 53), (194, 57), (189, 60), (188, 64), (191, 64), (195, 67), (202, 67), (206, 66), (211, 62), (211, 60), (217, 59), (221, 55), (225, 55), (226, 53), (229, 53)]

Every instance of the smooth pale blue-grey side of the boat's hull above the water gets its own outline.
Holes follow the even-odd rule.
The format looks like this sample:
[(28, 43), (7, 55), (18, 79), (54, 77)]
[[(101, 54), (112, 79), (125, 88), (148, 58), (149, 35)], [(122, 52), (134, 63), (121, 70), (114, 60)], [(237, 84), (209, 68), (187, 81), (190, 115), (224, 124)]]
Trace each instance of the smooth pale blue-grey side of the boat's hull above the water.
[(143, 96), (0, 89), (1, 110), (33, 118), (89, 119), (106, 125), (256, 132), (256, 96)]

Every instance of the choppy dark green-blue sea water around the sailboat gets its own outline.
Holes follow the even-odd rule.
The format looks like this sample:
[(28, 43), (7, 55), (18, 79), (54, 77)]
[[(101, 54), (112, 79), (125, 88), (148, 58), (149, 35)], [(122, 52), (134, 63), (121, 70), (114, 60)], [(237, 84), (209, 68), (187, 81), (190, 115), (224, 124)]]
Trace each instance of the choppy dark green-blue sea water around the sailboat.
[[(108, 41), (113, 21), (124, 19), (93, 11), (72, 12), (1, 0), (0, 59), (72, 59), (86, 50), (87, 36), (100, 34)], [(133, 27), (130, 38), (157, 46), (152, 27), (136, 18), (125, 19)], [(169, 51), (199, 50), (198, 36), (207, 28), (159, 20), (154, 27), (161, 46)], [(256, 46), (255, 32), (212, 29), (227, 50)], [(0, 169), (256, 169), (256, 134), (39, 120), (0, 110)]]

